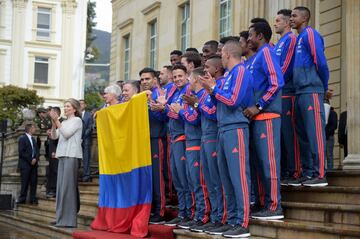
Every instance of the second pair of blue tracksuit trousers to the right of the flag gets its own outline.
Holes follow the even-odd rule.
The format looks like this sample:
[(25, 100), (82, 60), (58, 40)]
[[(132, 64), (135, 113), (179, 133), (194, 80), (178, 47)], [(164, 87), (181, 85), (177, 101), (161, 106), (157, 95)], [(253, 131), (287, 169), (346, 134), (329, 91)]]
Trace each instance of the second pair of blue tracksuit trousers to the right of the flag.
[(179, 202), (179, 217), (192, 217), (192, 197), (185, 155), (185, 140), (174, 140), (170, 146), (170, 169)]

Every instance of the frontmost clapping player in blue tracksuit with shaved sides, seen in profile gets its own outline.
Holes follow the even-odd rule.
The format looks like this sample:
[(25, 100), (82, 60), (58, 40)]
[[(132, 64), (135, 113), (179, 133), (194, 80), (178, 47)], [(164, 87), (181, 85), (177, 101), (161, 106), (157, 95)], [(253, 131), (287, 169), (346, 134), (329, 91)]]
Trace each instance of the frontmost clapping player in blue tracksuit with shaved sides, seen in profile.
[[(252, 104), (252, 77), (241, 63), (238, 41), (228, 41), (222, 49), (222, 63), (228, 71), (223, 85), (212, 77), (203, 78), (204, 88), (216, 102), (218, 121), (218, 167), (224, 185), (227, 224), (209, 230), (224, 237), (248, 237), (250, 213), (249, 120), (243, 110)], [(225, 163), (226, 162), (226, 163)]]

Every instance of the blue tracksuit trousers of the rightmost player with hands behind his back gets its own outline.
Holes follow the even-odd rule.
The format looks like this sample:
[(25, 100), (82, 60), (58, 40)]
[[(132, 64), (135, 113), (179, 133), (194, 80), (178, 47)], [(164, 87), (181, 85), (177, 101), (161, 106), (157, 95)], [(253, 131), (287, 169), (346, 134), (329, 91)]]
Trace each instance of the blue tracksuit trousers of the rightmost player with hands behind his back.
[(299, 136), (303, 175), (325, 177), (325, 111), (324, 95), (296, 96), (296, 130)]

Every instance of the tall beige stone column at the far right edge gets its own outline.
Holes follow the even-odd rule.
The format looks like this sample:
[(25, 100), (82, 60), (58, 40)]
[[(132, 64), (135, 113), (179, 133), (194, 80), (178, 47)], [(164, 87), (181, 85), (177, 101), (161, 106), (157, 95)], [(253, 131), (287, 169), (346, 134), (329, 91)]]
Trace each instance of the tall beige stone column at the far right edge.
[(360, 169), (360, 1), (343, 1), (345, 7), (345, 64), (347, 82), (348, 156), (343, 169)]

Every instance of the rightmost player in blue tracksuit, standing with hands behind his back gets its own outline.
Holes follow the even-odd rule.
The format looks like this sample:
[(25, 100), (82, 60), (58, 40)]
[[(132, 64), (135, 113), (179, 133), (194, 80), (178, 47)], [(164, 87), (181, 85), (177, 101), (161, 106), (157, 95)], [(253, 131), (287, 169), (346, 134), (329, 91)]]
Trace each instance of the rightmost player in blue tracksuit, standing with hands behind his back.
[(291, 27), (299, 33), (293, 81), (303, 177), (291, 183), (319, 187), (328, 185), (325, 176), (324, 93), (328, 90), (329, 68), (324, 54), (324, 40), (319, 32), (308, 26), (309, 20), (308, 8), (293, 9)]

